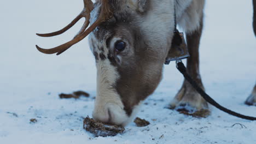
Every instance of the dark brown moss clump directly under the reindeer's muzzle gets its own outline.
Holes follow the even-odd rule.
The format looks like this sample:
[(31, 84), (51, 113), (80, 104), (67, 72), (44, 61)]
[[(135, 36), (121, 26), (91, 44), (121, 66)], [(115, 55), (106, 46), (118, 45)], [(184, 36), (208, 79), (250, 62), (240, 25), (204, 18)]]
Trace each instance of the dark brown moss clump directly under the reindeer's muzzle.
[(118, 125), (108, 125), (101, 122), (94, 121), (94, 119), (86, 117), (84, 119), (84, 129), (98, 136), (115, 136), (125, 131), (124, 127)]

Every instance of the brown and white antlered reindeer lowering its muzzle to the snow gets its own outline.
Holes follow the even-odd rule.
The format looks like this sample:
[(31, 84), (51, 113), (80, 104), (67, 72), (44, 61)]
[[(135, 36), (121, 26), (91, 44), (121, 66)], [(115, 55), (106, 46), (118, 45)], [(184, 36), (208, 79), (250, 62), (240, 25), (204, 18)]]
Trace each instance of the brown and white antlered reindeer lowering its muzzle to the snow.
[[(84, 0), (82, 13), (68, 26), (54, 33), (37, 34), (41, 37), (62, 34), (85, 17), (74, 39), (53, 49), (39, 46), (37, 49), (60, 55), (89, 35), (97, 67), (97, 95), (92, 116), (104, 123), (125, 126), (162, 79), (176, 22), (186, 33), (189, 74), (203, 88), (199, 44), (204, 6), (205, 0), (97, 0), (95, 3)], [(87, 28), (89, 23), (92, 24)], [(252, 97), (255, 100), (255, 92)], [(170, 107), (188, 112), (208, 110), (207, 102), (185, 80)]]

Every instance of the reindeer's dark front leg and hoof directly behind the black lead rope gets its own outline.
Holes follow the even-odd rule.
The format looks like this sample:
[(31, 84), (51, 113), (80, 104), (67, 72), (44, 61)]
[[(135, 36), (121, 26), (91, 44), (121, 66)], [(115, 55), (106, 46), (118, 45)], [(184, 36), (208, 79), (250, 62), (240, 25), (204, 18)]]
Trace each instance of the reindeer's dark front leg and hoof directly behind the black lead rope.
[[(203, 21), (201, 19), (200, 28), (187, 34), (187, 44), (190, 53), (190, 57), (187, 61), (187, 69), (190, 76), (203, 88), (199, 73), (199, 44), (202, 34), (202, 27)], [(197, 113), (199, 114), (199, 117), (206, 117), (210, 114), (206, 101), (186, 80), (184, 80), (182, 88), (179, 90), (174, 100), (172, 100), (170, 103), (170, 108), (181, 111), (182, 113), (189, 113), (189, 115), (194, 113), (196, 116)]]

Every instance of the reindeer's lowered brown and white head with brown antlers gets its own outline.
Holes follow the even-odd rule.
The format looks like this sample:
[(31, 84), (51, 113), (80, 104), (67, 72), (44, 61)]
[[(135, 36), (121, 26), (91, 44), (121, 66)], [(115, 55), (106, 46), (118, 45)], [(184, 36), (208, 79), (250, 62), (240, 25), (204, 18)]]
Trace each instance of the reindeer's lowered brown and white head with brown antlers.
[[(126, 125), (139, 104), (158, 86), (162, 67), (171, 47), (174, 29), (173, 1), (84, 0), (85, 8), (61, 34), (80, 18), (86, 21), (71, 41), (53, 49), (37, 49), (59, 55), (90, 33), (89, 43), (96, 59), (97, 96), (94, 119)], [(92, 25), (88, 27), (89, 22)]]

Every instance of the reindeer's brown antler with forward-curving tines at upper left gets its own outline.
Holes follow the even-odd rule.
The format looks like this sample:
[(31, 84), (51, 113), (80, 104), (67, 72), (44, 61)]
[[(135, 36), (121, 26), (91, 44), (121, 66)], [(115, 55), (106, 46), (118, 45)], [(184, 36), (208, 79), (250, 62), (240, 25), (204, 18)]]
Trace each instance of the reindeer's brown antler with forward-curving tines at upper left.
[(40, 48), (39, 46), (36, 45), (37, 49), (40, 52), (43, 52), (43, 53), (46, 53), (46, 54), (57, 53), (57, 55), (60, 55), (62, 52), (69, 49), (69, 47), (71, 47), (72, 45), (74, 45), (74, 44), (78, 43), (79, 41), (81, 41), (82, 39), (84, 39), (98, 25), (100, 25), (100, 23), (108, 20), (112, 16), (112, 11), (110, 10), (108, 0), (102, 0), (100, 16), (88, 29), (86, 29), (86, 27), (88, 27), (88, 25), (89, 25), (90, 12), (92, 11), (94, 6), (93, 6), (93, 3), (91, 2), (91, 0), (84, 0), (84, 3), (86, 4), (86, 8), (85, 8), (85, 11), (84, 11), (85, 16), (86, 16), (86, 21), (85, 21), (82, 29), (80, 30), (79, 34), (77, 36), (75, 36), (75, 38), (73, 40), (68, 41), (67, 43), (62, 44), (60, 46), (54, 47), (53, 49), (42, 49), (42, 48)]

